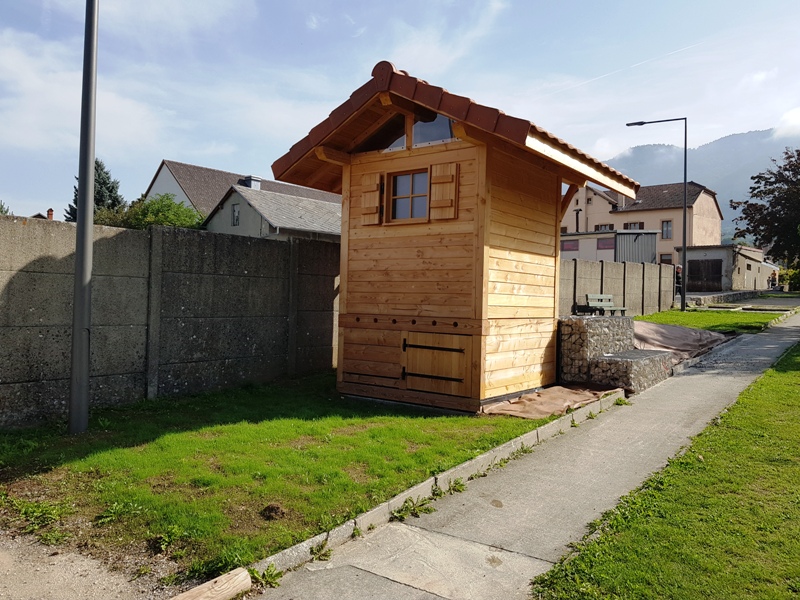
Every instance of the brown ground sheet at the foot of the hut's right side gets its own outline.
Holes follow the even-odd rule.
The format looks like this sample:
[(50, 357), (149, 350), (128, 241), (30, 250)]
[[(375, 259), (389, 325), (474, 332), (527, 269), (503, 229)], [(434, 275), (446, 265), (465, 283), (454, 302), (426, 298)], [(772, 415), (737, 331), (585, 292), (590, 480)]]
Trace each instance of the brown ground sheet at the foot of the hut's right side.
[(523, 394), (518, 398), (483, 406), (481, 413), (509, 415), (523, 419), (544, 419), (550, 415), (563, 415), (568, 409), (575, 410), (615, 392), (623, 393), (621, 388), (598, 390), (585, 386), (554, 385), (538, 392)]

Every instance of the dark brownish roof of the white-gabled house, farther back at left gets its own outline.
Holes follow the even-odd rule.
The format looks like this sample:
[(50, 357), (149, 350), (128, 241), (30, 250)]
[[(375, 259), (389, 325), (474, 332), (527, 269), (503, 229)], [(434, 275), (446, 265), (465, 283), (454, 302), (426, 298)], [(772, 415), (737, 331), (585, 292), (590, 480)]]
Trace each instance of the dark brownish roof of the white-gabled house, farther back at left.
[[(189, 198), (189, 202), (191, 202), (203, 216), (211, 214), (231, 186), (243, 184), (246, 177), (246, 175), (241, 175), (239, 173), (209, 169), (208, 167), (190, 165), (174, 160), (163, 160), (161, 165), (170, 170), (173, 177), (175, 177), (175, 180), (178, 182), (178, 185), (181, 186), (181, 189), (186, 194), (186, 197)], [(158, 172), (156, 172), (156, 175), (158, 175)], [(153, 181), (147, 188), (145, 195), (150, 193), (150, 188), (153, 186), (155, 179), (156, 178), (153, 177)], [(261, 180), (261, 189), (302, 198), (335, 202), (336, 204), (340, 204), (342, 201), (342, 197), (337, 194), (270, 179)]]

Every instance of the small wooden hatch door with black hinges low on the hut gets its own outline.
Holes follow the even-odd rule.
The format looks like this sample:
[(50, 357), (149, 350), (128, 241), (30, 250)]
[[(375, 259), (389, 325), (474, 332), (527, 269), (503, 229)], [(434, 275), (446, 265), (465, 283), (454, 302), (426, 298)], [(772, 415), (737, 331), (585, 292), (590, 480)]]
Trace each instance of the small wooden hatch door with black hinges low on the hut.
[(407, 389), (469, 396), (471, 341), (468, 335), (408, 332), (403, 344)]

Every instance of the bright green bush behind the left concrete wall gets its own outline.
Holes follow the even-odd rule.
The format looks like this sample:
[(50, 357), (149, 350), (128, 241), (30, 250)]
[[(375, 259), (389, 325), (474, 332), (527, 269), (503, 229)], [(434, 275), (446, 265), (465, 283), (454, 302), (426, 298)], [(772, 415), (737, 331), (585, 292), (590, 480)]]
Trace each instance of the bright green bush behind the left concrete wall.
[(94, 222), (128, 229), (147, 229), (149, 225), (196, 229), (203, 222), (203, 216), (191, 206), (175, 202), (174, 194), (158, 194), (152, 198), (145, 198), (143, 194), (130, 205), (96, 209)]

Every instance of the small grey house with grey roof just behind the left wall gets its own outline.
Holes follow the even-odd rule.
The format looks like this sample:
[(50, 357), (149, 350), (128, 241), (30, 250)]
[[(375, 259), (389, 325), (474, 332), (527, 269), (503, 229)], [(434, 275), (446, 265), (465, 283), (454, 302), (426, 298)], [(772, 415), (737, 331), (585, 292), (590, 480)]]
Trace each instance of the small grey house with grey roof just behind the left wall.
[(338, 243), (342, 226), (342, 206), (338, 202), (233, 185), (208, 215), (203, 226), (216, 233), (276, 240), (316, 239)]

